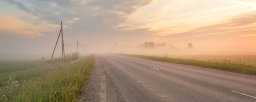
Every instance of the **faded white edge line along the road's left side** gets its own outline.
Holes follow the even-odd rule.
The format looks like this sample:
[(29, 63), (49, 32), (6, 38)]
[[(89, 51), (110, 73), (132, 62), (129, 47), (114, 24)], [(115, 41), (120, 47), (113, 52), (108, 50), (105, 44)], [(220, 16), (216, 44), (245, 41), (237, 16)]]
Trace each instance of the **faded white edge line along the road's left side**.
[(99, 101), (100, 102), (107, 102), (107, 96), (106, 96), (106, 82), (105, 82), (105, 74), (102, 70), (102, 77), (101, 77), (101, 83), (100, 83), (100, 93), (99, 93)]

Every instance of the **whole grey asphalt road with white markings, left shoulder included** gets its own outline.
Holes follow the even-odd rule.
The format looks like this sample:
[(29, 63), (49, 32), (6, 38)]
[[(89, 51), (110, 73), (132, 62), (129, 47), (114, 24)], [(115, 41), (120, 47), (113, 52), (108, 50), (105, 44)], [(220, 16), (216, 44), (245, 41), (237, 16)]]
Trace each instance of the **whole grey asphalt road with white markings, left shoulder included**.
[(256, 102), (254, 75), (115, 54), (95, 61), (89, 102)]

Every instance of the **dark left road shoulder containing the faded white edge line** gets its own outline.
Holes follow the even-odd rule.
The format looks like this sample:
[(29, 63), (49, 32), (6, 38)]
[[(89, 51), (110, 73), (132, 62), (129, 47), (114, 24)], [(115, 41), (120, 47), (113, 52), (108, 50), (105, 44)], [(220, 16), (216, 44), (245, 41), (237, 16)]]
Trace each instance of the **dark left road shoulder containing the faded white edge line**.
[(79, 102), (125, 102), (115, 82), (105, 71), (100, 57), (96, 57), (90, 79), (82, 90), (84, 94), (79, 96)]

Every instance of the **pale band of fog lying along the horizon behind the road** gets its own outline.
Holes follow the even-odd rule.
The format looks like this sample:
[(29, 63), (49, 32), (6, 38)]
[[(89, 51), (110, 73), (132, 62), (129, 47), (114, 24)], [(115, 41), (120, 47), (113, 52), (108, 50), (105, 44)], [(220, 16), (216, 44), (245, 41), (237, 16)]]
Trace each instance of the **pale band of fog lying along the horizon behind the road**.
[[(145, 43), (145, 42), (144, 42)], [(192, 45), (191, 48), (188, 45), (174, 46), (174, 45), (163, 45), (155, 44), (153, 46), (146, 46), (144, 43), (137, 45), (126, 45), (126, 44), (94, 44), (94, 45), (83, 45), (79, 43), (78, 49), (76, 45), (67, 45), (65, 47), (65, 53), (74, 53), (76, 50), (80, 55), (87, 54), (99, 54), (99, 53), (125, 53), (125, 54), (141, 54), (141, 55), (255, 55), (255, 51), (252, 49), (245, 48), (198, 48), (197, 45)], [(192, 43), (193, 44), (193, 43)], [(52, 44), (51, 44), (52, 45)], [(53, 58), (61, 57), (61, 44), (58, 44), (55, 49)], [(126, 46), (125, 46), (126, 45)], [(158, 45), (158, 46), (156, 46)], [(46, 45), (45, 45), (46, 46)], [(52, 55), (54, 46), (48, 48), (36, 48), (31, 51), (26, 49), (20, 49), (15, 51), (9, 51), (9, 53), (0, 53), (0, 60), (34, 60), (41, 59), (44, 57), (45, 60), (49, 60)], [(31, 48), (30, 48), (31, 49)]]

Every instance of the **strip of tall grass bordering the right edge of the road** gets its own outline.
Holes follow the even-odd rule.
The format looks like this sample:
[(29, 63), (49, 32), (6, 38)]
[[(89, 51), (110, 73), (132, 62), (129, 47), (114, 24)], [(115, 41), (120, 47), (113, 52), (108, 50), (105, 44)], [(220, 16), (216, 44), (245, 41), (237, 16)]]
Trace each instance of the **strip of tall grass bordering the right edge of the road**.
[(242, 74), (252, 74), (256, 75), (256, 63), (247, 62), (244, 60), (237, 60), (232, 61), (228, 59), (204, 59), (204, 60), (197, 60), (197, 59), (182, 59), (182, 58), (171, 58), (171, 57), (161, 57), (161, 56), (146, 56), (146, 55), (137, 55), (137, 54), (122, 54), (131, 57), (140, 57), (145, 59), (153, 59), (163, 62), (171, 62), (177, 64), (184, 64), (184, 65), (194, 65), (204, 68), (212, 68), (218, 69), (223, 71), (231, 71), (237, 72)]

